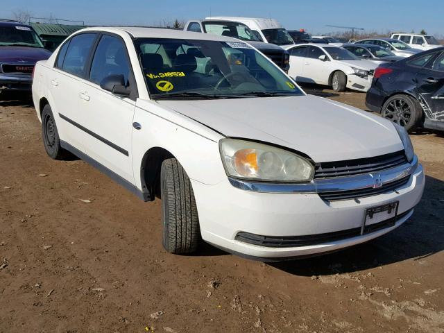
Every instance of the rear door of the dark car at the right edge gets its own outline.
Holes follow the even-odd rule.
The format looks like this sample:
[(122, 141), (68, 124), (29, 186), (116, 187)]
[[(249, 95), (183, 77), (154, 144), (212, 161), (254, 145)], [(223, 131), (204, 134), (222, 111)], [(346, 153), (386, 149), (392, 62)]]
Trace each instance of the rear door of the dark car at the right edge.
[(426, 117), (444, 121), (444, 52), (431, 58), (416, 76), (418, 94), (425, 103)]

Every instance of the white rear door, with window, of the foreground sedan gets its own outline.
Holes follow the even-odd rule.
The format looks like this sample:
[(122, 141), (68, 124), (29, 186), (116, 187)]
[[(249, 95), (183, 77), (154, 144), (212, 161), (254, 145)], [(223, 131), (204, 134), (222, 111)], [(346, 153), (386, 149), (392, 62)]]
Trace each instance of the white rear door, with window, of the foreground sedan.
[(80, 80), (85, 76), (85, 66), (96, 37), (96, 33), (81, 33), (65, 42), (49, 77), (53, 97), (51, 108), (57, 113), (55, 117), (60, 118), (57, 123), (60, 139), (79, 151), (84, 151), (85, 137), (85, 132), (80, 129), (83, 121), (78, 111)]

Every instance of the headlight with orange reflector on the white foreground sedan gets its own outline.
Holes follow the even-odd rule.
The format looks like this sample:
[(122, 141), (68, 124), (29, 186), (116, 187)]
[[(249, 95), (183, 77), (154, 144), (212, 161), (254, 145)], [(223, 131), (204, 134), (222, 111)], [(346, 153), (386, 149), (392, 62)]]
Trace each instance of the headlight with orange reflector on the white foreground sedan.
[(290, 151), (239, 139), (221, 139), (222, 162), (229, 176), (277, 182), (309, 182), (314, 167)]

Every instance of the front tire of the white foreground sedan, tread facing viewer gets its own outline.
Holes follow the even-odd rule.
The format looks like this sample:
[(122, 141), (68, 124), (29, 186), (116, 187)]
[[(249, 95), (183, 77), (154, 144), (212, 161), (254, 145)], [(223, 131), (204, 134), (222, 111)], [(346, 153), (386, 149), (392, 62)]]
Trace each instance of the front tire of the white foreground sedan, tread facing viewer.
[(162, 163), (160, 189), (165, 250), (175, 254), (193, 253), (200, 242), (196, 200), (187, 173), (176, 158)]

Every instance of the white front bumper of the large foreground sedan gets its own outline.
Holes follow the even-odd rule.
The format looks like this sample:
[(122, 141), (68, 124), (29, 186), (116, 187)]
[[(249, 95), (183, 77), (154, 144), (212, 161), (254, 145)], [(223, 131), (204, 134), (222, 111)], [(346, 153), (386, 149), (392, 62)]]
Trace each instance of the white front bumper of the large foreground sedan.
[[(328, 253), (386, 234), (411, 216), (425, 185), (418, 164), (409, 181), (376, 196), (359, 200), (325, 201), (314, 193), (262, 193), (233, 187), (230, 182), (204, 185), (191, 181), (196, 197), (202, 237), (229, 252), (268, 259), (282, 259)], [(269, 237), (315, 235), (361, 228), (366, 209), (399, 201), (402, 217), (394, 225), (309, 246), (268, 247), (237, 240), (239, 232)], [(410, 211), (410, 212), (409, 212)], [(405, 213), (405, 214), (403, 214)], [(239, 238), (239, 237), (238, 237)]]

